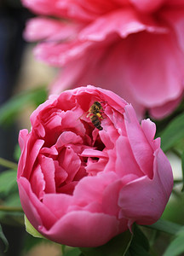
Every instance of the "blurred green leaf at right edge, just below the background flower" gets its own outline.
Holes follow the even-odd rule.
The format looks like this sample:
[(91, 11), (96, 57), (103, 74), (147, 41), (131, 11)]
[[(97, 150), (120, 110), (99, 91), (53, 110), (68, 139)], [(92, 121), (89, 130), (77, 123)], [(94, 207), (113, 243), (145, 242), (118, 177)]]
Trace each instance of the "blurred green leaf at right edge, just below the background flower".
[(177, 143), (181, 138), (184, 137), (184, 113), (176, 116), (172, 119), (164, 129), (164, 131), (159, 134), (161, 137), (161, 148), (164, 151), (172, 148), (175, 143)]

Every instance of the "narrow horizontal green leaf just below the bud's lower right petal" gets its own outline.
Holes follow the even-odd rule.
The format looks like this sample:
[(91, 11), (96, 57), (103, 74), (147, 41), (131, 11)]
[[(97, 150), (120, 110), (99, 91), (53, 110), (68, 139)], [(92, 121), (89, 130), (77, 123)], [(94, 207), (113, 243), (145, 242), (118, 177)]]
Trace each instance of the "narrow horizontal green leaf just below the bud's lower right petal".
[(170, 235), (175, 235), (179, 230), (181, 230), (182, 226), (180, 224), (172, 223), (168, 220), (159, 219), (156, 223), (147, 225), (146, 227), (153, 230), (159, 230)]

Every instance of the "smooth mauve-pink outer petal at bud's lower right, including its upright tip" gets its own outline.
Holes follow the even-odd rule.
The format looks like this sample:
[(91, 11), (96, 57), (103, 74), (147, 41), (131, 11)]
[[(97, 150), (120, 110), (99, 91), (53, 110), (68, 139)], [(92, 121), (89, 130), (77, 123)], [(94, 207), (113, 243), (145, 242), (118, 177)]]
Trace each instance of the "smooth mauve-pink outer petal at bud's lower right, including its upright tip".
[(161, 149), (155, 154), (153, 172), (152, 179), (141, 177), (121, 189), (119, 218), (130, 218), (137, 224), (152, 224), (160, 218), (173, 187), (170, 162)]

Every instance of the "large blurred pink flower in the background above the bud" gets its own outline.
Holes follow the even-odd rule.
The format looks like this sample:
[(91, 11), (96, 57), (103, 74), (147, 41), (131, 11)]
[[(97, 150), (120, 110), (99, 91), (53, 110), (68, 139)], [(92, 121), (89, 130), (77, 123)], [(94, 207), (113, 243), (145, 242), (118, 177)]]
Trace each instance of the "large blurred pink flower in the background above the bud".
[(139, 117), (148, 109), (158, 119), (181, 101), (183, 1), (22, 2), (42, 15), (28, 22), (25, 32), (28, 40), (43, 40), (35, 55), (63, 67), (51, 92), (98, 85), (131, 102)]

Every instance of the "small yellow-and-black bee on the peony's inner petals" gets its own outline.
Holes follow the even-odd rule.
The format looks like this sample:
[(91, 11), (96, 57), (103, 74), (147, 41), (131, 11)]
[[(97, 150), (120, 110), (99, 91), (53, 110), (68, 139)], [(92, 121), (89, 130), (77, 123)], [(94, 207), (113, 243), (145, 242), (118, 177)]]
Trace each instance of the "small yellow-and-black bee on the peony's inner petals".
[(87, 118), (91, 120), (91, 123), (99, 130), (103, 130), (101, 126), (101, 119), (103, 119), (101, 113), (104, 109), (101, 106), (101, 102), (94, 102), (93, 105), (86, 112)]

